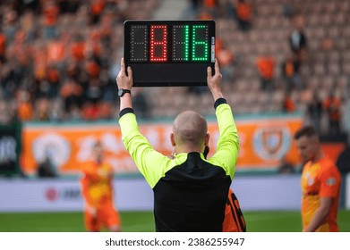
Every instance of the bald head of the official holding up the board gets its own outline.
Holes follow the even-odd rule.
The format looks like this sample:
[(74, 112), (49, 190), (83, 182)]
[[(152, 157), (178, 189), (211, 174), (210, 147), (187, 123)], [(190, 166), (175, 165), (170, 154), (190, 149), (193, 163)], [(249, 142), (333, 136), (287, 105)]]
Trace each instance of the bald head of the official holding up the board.
[(181, 112), (175, 118), (173, 132), (178, 145), (202, 146), (208, 132), (207, 121), (198, 112)]

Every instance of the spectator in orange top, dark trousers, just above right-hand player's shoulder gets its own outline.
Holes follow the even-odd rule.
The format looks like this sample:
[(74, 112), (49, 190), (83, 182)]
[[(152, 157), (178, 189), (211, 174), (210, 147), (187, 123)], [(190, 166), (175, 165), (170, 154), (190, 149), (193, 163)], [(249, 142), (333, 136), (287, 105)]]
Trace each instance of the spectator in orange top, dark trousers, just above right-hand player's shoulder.
[(340, 133), (341, 100), (332, 92), (323, 102), (323, 109), (329, 115), (329, 132)]

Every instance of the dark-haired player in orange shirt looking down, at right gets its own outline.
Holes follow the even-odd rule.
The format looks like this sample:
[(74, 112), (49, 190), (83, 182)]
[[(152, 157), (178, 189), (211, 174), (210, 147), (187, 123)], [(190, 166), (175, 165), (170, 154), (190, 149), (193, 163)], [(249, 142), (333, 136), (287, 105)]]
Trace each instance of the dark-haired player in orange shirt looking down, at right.
[(319, 136), (312, 127), (296, 131), (295, 142), (305, 162), (302, 174), (303, 231), (338, 231), (341, 179), (337, 166), (322, 152)]

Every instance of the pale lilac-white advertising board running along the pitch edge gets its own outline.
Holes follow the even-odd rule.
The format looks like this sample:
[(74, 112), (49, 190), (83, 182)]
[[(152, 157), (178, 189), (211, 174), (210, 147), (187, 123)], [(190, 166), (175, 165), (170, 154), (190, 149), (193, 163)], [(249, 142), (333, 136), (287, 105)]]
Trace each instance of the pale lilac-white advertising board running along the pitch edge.
[[(118, 210), (153, 209), (153, 192), (145, 179), (118, 178), (114, 179), (113, 187)], [(240, 176), (235, 177), (231, 187), (243, 211), (300, 209), (300, 175)], [(78, 179), (0, 181), (0, 212), (64, 212), (82, 209)]]

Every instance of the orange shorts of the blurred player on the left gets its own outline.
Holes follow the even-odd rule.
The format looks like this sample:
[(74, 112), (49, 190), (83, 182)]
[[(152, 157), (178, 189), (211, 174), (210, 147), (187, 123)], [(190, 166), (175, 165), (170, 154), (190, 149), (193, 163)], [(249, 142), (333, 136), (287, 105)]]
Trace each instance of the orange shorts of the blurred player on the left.
[(111, 229), (112, 227), (120, 227), (119, 213), (111, 205), (98, 208), (96, 217), (90, 212), (84, 212), (85, 228), (89, 231), (100, 231), (103, 227)]

